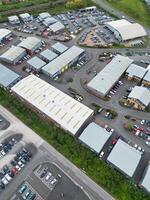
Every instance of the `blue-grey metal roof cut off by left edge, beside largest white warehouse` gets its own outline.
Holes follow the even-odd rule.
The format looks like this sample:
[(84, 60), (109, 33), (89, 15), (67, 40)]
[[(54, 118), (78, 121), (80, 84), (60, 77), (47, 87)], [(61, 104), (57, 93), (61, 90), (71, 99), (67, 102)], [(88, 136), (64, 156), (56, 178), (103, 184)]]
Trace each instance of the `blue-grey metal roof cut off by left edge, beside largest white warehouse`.
[(19, 79), (19, 77), (20, 76), (18, 74), (0, 64), (0, 85), (8, 87), (14, 81)]

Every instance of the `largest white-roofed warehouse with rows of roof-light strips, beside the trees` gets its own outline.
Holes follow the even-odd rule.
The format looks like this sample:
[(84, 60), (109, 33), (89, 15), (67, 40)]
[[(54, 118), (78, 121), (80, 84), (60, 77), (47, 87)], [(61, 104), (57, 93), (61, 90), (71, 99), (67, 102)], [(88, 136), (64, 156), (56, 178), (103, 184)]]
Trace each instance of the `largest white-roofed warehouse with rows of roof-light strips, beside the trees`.
[(12, 91), (73, 135), (94, 113), (33, 74), (13, 86)]

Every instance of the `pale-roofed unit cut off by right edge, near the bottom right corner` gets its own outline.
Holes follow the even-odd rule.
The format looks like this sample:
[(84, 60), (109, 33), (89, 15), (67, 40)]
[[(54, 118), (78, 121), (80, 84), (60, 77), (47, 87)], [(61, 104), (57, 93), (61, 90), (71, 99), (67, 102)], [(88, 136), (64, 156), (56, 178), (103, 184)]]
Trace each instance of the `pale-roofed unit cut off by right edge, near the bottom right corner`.
[(150, 163), (148, 164), (148, 166), (145, 169), (145, 172), (144, 172), (144, 175), (143, 175), (140, 185), (143, 188), (145, 188), (145, 190), (150, 192)]

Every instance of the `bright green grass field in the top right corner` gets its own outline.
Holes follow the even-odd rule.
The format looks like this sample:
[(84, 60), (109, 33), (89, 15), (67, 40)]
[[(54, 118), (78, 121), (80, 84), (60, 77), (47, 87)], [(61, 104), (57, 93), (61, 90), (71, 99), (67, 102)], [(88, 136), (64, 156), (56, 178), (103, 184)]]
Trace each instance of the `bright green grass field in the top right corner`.
[(107, 0), (113, 7), (123, 11), (145, 26), (150, 26), (150, 9), (143, 0)]

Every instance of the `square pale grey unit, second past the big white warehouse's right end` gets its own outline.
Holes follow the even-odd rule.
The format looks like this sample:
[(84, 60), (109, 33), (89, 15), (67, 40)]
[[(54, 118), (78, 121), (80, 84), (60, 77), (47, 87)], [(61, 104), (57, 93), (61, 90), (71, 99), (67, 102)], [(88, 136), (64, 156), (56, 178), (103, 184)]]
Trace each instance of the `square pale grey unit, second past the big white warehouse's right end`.
[(141, 158), (141, 152), (119, 139), (109, 154), (107, 161), (127, 177), (133, 177)]

